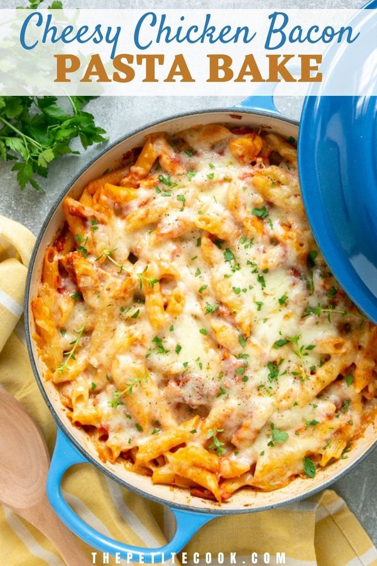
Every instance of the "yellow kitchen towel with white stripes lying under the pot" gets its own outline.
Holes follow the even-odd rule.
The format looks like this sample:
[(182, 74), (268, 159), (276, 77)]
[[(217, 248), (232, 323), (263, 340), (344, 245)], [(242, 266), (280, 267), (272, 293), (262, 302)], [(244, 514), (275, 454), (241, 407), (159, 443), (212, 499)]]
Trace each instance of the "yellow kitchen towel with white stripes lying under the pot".
[[(0, 216), (0, 383), (33, 415), (52, 451), (56, 427), (24, 344), (23, 294), (33, 243), (24, 226)], [(119, 541), (158, 547), (174, 529), (164, 507), (125, 490), (92, 466), (70, 470), (63, 487), (68, 503), (86, 522)], [(92, 561), (94, 549), (80, 544)], [(274, 511), (218, 518), (206, 524), (184, 552), (180, 564), (228, 565), (235, 556), (237, 564), (246, 565), (377, 566), (376, 548), (333, 491)], [(97, 555), (96, 564), (102, 563), (102, 555)], [(63, 561), (33, 526), (0, 507), (0, 564), (63, 566)]]

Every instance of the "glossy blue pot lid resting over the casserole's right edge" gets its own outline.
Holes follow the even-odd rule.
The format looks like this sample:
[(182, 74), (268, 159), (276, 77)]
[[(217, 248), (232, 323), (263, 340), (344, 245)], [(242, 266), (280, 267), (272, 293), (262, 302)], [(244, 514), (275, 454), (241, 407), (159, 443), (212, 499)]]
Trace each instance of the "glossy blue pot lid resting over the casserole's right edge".
[[(377, 1), (366, 8), (377, 8)], [(355, 80), (376, 92), (376, 29)], [(335, 50), (333, 51), (335, 54)], [(328, 52), (331, 54), (331, 50)], [(346, 57), (345, 49), (336, 59)], [(373, 59), (374, 58), (374, 59)], [(336, 72), (326, 79), (339, 80)], [(377, 324), (377, 97), (307, 96), (298, 138), (307, 217), (330, 269)]]

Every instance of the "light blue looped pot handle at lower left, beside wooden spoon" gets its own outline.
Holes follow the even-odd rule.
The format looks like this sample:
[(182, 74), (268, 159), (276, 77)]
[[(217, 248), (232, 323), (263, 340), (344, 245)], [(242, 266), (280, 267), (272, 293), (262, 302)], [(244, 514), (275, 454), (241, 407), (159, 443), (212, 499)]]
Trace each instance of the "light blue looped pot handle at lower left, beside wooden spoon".
[(58, 427), (57, 442), (47, 477), (47, 496), (51, 507), (53, 507), (55, 513), (57, 513), (67, 527), (71, 529), (77, 537), (90, 544), (90, 546), (98, 548), (101, 552), (109, 552), (112, 555), (119, 553), (120, 558), (128, 559), (132, 562), (140, 561), (140, 557), (142, 556), (142, 561), (146, 564), (160, 563), (170, 559), (172, 554), (177, 554), (202, 525), (218, 517), (218, 515), (212, 513), (194, 513), (192, 511), (183, 511), (169, 507), (175, 516), (176, 530), (174, 537), (165, 546), (159, 548), (143, 548), (114, 541), (106, 537), (106, 535), (99, 533), (80, 519), (62, 495), (60, 483), (68, 468), (71, 468), (71, 466), (75, 464), (89, 463), (90, 462), (77, 451), (71, 444), (71, 441), (67, 439), (66, 435), (64, 435)]

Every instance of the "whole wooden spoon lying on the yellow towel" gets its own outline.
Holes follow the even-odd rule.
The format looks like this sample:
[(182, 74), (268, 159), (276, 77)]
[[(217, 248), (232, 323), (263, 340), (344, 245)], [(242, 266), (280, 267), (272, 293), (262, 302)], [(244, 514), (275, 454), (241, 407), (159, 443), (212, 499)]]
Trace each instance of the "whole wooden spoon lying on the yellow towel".
[(36, 526), (67, 566), (90, 564), (46, 495), (50, 456), (40, 428), (0, 386), (0, 502)]

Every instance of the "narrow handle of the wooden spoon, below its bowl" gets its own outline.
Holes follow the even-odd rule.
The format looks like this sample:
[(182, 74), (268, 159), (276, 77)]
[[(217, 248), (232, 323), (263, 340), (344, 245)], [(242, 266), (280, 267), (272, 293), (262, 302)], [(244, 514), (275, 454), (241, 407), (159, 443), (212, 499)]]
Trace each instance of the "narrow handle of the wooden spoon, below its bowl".
[(16, 512), (36, 526), (54, 544), (67, 566), (92, 564), (78, 546), (71, 531), (53, 511), (47, 496), (34, 507)]

